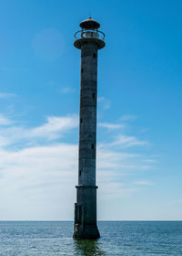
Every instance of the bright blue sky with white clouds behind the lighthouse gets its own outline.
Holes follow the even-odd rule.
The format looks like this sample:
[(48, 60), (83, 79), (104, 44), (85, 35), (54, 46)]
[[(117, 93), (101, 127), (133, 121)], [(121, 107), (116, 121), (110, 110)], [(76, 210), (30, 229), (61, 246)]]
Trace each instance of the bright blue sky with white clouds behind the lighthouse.
[(99, 51), (98, 219), (181, 220), (181, 1), (0, 3), (0, 219), (74, 219), (80, 51)]

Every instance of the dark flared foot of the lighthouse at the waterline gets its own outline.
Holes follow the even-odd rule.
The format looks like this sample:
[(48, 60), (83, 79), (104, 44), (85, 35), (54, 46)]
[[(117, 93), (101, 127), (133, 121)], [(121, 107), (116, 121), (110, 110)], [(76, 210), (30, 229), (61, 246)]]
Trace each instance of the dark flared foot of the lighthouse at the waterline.
[(96, 225), (83, 225), (81, 223), (75, 224), (74, 239), (96, 240), (100, 238), (100, 234)]

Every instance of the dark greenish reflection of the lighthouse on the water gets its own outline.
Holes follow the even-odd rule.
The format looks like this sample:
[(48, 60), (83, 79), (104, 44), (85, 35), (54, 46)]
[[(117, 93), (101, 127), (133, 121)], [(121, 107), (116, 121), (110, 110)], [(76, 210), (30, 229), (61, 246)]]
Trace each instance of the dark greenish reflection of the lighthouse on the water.
[(75, 240), (76, 256), (105, 256), (98, 240)]

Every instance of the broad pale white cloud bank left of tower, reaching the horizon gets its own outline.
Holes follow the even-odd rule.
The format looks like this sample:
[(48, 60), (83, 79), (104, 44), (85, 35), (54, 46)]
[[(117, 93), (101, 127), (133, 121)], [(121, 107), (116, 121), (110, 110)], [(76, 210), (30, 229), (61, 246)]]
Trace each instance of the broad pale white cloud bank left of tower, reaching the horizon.
[(73, 144), (1, 150), (0, 219), (72, 219), (76, 155)]

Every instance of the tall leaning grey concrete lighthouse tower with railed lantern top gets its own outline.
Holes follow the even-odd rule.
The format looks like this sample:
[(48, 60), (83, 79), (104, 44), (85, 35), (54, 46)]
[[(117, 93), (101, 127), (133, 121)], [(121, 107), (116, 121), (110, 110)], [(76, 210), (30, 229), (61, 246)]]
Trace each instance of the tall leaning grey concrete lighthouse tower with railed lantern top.
[(74, 46), (81, 49), (79, 165), (76, 186), (74, 238), (96, 239), (96, 91), (97, 51), (105, 47), (100, 24), (89, 17), (81, 22)]

